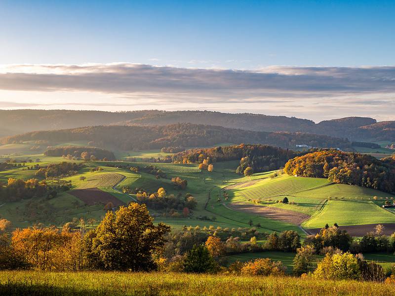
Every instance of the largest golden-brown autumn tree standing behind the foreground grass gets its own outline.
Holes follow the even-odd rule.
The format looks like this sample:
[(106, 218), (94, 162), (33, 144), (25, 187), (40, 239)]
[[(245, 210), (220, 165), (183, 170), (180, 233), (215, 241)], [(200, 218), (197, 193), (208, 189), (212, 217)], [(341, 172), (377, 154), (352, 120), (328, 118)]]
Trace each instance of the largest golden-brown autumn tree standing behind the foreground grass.
[(130, 203), (116, 213), (107, 212), (86, 236), (90, 265), (102, 270), (155, 269), (153, 256), (161, 252), (170, 227), (153, 221), (145, 204)]

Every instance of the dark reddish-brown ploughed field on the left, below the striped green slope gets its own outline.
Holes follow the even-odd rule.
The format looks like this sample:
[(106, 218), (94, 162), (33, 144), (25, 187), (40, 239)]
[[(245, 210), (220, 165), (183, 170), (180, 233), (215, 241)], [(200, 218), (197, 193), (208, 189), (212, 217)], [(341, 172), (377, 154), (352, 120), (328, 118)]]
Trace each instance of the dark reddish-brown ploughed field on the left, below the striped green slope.
[(124, 205), (124, 203), (120, 201), (117, 197), (98, 188), (76, 189), (70, 191), (69, 193), (82, 200), (88, 206), (93, 206), (97, 204), (105, 205), (110, 201), (114, 204), (115, 207)]

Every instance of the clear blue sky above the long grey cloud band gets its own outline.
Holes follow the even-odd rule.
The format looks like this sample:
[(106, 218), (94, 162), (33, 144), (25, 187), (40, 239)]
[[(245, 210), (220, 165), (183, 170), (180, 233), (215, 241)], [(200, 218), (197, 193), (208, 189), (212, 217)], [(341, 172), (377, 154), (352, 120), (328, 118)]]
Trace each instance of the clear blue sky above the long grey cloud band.
[(0, 8), (1, 64), (395, 63), (395, 1), (12, 0)]

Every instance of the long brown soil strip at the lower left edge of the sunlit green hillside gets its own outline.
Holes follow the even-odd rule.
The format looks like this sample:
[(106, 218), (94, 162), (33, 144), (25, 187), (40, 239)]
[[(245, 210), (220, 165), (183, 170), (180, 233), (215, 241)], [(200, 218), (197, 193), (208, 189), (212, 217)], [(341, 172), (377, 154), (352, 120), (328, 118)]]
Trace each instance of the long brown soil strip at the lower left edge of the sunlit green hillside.
[(254, 215), (261, 215), (266, 218), (284, 221), (284, 222), (290, 222), (297, 225), (300, 225), (302, 222), (310, 218), (309, 215), (303, 213), (278, 209), (274, 207), (241, 204), (241, 203), (230, 203), (227, 206), (236, 211), (240, 211), (248, 214), (254, 214)]

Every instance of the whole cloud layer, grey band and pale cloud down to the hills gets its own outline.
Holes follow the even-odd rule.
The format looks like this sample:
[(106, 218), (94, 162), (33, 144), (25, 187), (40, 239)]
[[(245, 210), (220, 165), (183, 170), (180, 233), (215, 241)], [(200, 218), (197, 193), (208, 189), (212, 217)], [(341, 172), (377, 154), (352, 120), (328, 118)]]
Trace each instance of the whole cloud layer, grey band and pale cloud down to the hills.
[[(326, 112), (395, 119), (392, 115), (395, 67), (273, 66), (246, 71), (130, 63), (3, 65), (0, 66), (0, 90), (7, 94), (21, 92), (29, 98), (28, 102), (16, 101), (15, 107), (75, 104), (93, 109), (95, 106), (98, 109), (158, 106), (158, 109), (174, 110), (204, 106), (212, 110), (283, 113), (298, 117), (310, 114), (310, 118), (320, 119), (326, 118)], [(40, 98), (48, 97), (48, 93), (56, 97), (59, 92), (67, 92), (62, 95), (62, 102)], [(33, 93), (35, 96), (31, 95)], [(43, 93), (46, 95), (37, 96)], [(91, 95), (81, 103), (76, 93)], [(11, 100), (3, 95), (0, 101), (3, 101), (0, 108), (12, 107)], [(292, 110), (294, 114), (290, 114)]]

